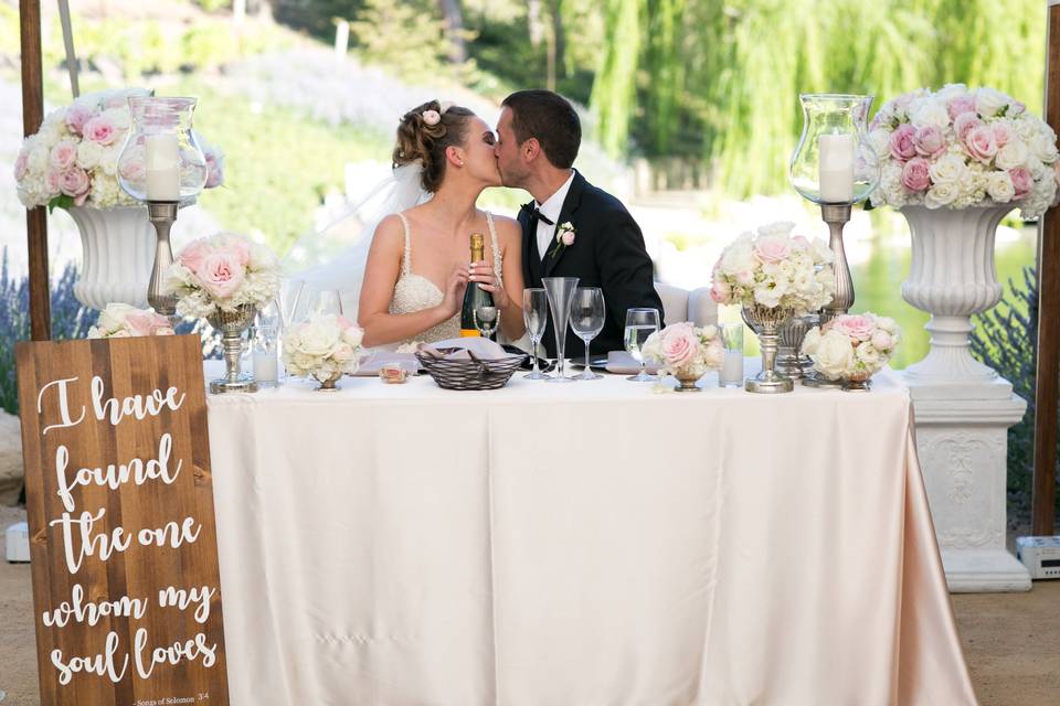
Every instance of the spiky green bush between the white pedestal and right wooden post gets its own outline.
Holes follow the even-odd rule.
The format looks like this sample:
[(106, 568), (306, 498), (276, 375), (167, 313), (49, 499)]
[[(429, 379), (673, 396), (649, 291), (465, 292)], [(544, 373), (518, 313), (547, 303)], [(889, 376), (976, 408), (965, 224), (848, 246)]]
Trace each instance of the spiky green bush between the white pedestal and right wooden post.
[[(1022, 286), (1008, 280), (1009, 296), (977, 317), (973, 354), (1013, 384), (1027, 400), (1027, 414), (1008, 430), (1008, 496), (1014, 513), (1030, 515), (1035, 461), (1035, 379), (1038, 352), (1038, 274), (1022, 270)], [(1058, 475), (1060, 479), (1060, 475)], [(1060, 483), (1058, 483), (1060, 488)], [(1060, 493), (1057, 493), (1060, 512)]]

